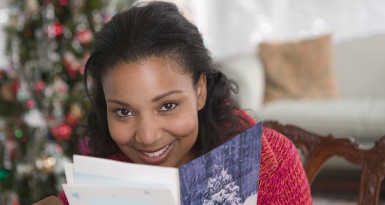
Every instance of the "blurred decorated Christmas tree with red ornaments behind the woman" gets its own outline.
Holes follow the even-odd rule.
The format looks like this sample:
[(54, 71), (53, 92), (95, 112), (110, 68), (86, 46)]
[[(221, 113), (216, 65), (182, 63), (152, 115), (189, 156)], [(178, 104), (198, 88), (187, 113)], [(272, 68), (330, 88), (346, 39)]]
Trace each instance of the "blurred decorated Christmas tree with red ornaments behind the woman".
[(10, 1), (8, 60), (0, 65), (0, 204), (31, 204), (62, 190), (63, 162), (87, 151), (83, 76), (93, 33), (132, 3)]

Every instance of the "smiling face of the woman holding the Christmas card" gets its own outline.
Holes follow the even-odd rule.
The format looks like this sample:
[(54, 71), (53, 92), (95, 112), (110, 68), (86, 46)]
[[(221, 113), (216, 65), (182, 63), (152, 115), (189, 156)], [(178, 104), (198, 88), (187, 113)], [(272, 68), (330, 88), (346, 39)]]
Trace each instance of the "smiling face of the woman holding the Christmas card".
[(206, 78), (197, 86), (175, 61), (151, 58), (120, 64), (103, 78), (108, 129), (135, 163), (179, 167), (194, 159), (198, 111), (206, 100)]

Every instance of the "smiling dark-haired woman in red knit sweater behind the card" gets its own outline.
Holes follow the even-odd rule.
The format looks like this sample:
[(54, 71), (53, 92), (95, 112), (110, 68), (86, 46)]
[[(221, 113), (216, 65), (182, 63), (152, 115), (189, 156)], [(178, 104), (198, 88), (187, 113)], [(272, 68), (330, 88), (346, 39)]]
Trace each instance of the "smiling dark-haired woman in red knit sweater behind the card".
[[(115, 15), (95, 35), (85, 73), (95, 89), (86, 134), (94, 156), (179, 167), (256, 124), (170, 3)], [(259, 181), (258, 204), (312, 203), (296, 148), (274, 130), (263, 129)], [(36, 204), (68, 203), (59, 198)]]

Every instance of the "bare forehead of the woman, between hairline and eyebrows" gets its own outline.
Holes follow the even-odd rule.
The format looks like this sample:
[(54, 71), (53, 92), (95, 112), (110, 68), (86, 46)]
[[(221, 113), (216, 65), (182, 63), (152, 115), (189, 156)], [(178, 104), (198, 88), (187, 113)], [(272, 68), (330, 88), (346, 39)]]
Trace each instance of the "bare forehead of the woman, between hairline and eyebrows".
[(160, 58), (119, 64), (106, 73), (103, 90), (106, 96), (143, 96), (168, 90), (190, 90), (194, 87), (192, 77), (181, 70), (174, 60)]

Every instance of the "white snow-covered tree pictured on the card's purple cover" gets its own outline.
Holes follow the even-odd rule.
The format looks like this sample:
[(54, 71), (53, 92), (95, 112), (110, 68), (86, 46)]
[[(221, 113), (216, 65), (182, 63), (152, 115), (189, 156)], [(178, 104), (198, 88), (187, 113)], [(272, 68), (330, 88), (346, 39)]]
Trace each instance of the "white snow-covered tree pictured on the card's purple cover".
[[(215, 165), (214, 170), (218, 170), (218, 174), (214, 174), (207, 181), (207, 189), (210, 198), (203, 201), (203, 205), (239, 205), (239, 187), (235, 185), (233, 177), (227, 173), (227, 170)], [(220, 171), (219, 171), (220, 170)]]

